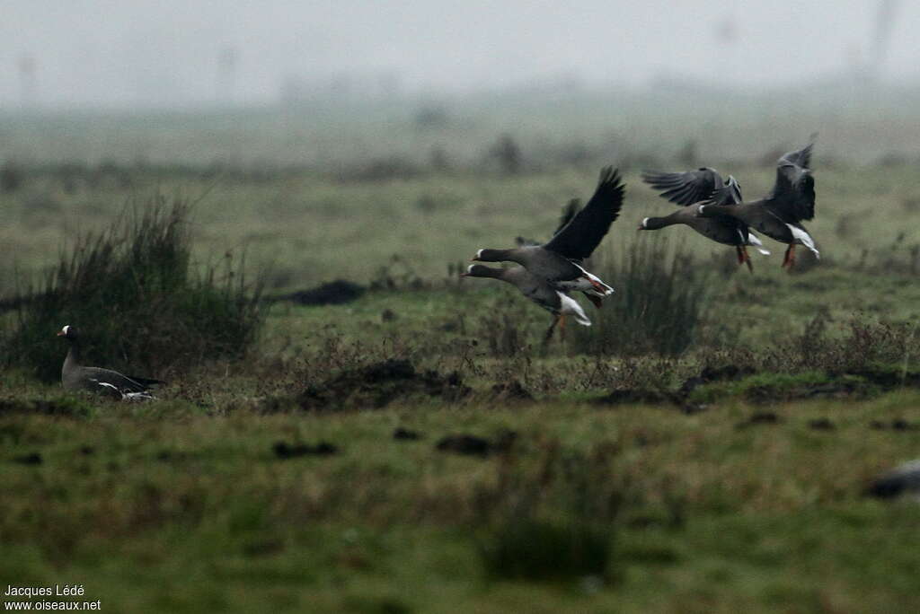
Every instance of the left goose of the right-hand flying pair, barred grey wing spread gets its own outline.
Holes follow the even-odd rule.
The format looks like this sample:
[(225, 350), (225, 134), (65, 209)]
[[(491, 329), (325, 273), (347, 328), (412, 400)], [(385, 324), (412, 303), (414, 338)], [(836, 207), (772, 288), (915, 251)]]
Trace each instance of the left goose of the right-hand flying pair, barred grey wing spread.
[(738, 254), (738, 264), (747, 264), (752, 273), (753, 264), (747, 246), (753, 245), (761, 254), (769, 256), (770, 252), (764, 249), (764, 244), (744, 222), (727, 215), (706, 218), (696, 215), (703, 201), (727, 207), (741, 204), (742, 187), (733, 176), (729, 176), (723, 183), (722, 176), (715, 168), (700, 168), (686, 173), (646, 171), (642, 173), (642, 180), (658, 189), (662, 199), (681, 205), (682, 208), (664, 217), (645, 218), (638, 230), (659, 230), (674, 224), (687, 225), (716, 243), (733, 245)]

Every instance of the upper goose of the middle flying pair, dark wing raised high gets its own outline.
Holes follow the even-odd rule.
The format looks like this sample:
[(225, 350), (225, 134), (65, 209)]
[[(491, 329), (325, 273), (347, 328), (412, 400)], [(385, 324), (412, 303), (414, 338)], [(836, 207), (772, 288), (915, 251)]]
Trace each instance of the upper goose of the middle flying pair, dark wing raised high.
[(612, 166), (606, 166), (588, 204), (545, 244), (480, 249), (473, 260), (516, 262), (536, 278), (545, 280), (552, 289), (579, 290), (600, 307), (604, 297), (613, 294), (614, 289), (581, 267), (581, 262), (591, 256), (619, 216), (623, 193), (619, 174)]

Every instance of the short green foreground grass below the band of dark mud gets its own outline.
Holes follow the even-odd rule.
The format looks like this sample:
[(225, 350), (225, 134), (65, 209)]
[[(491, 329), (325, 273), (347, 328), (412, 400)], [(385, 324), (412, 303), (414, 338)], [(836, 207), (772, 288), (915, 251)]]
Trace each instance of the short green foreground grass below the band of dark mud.
[[(734, 402), (692, 416), (558, 402), (207, 415), (181, 401), (4, 415), (0, 576), (82, 583), (125, 612), (911, 609), (920, 513), (862, 489), (920, 444), (869, 419), (920, 419), (903, 411), (918, 401), (784, 404), (779, 424), (741, 430), (753, 409)], [(837, 428), (811, 430), (816, 416)], [(396, 426), (423, 438), (396, 441)], [(434, 449), (445, 434), (501, 428), (519, 433), (510, 456)], [(279, 460), (276, 440), (341, 453)], [(32, 452), (42, 464), (11, 461)], [(580, 457), (595, 460), (571, 464)], [(618, 497), (613, 517), (594, 517), (607, 572), (496, 578), (483, 515), (532, 491), (541, 514), (570, 521), (570, 495), (554, 497), (601, 470), (607, 483), (586, 485)]]

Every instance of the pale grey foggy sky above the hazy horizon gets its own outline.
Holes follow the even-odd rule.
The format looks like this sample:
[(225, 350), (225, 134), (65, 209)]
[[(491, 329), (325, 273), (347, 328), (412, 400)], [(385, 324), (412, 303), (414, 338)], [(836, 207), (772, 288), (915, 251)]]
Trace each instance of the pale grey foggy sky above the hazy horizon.
[[(286, 76), (395, 75), (401, 91), (467, 91), (574, 75), (772, 85), (871, 55), (879, 0), (16, 0), (0, 20), (0, 108), (272, 102)], [(920, 78), (920, 3), (897, 4), (883, 64)], [(726, 36), (730, 40), (725, 40)], [(236, 51), (236, 78), (218, 76)], [(34, 73), (29, 77), (29, 58)], [(24, 70), (25, 67), (25, 70)], [(24, 79), (25, 75), (25, 79)], [(25, 97), (25, 98), (24, 98)], [(228, 102), (226, 99), (220, 102)]]

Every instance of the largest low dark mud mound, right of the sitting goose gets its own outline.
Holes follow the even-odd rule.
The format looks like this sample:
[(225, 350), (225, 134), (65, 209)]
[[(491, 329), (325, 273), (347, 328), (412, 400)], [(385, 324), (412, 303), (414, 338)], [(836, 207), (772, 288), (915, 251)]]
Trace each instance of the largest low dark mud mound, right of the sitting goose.
[(456, 372), (442, 375), (418, 371), (408, 360), (390, 359), (367, 367), (342, 371), (328, 381), (308, 386), (293, 399), (269, 399), (263, 413), (291, 407), (310, 412), (379, 409), (388, 404), (420, 397), (453, 403), (470, 393)]

